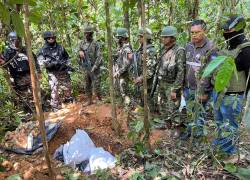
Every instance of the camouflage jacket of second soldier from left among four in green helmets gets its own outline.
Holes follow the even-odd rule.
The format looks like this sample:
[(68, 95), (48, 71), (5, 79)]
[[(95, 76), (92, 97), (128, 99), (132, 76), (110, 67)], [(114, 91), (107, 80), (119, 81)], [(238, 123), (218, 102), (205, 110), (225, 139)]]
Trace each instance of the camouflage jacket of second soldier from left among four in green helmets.
[(125, 76), (129, 73), (129, 68), (131, 65), (131, 60), (128, 59), (128, 54), (132, 53), (132, 48), (129, 44), (123, 44), (123, 46), (118, 49), (118, 58), (115, 62), (117, 65), (117, 72), (119, 76)]

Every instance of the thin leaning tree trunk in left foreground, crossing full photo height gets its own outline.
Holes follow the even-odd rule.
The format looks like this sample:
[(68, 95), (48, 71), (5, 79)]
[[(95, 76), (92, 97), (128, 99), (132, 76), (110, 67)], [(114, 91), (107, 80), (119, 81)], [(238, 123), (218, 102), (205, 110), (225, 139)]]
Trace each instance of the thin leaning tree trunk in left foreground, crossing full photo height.
[(33, 91), (33, 98), (34, 103), (36, 107), (36, 118), (39, 121), (39, 128), (40, 133), (42, 135), (42, 142), (43, 142), (43, 149), (44, 149), (44, 156), (47, 162), (48, 170), (49, 170), (49, 176), (51, 179), (53, 179), (53, 171), (51, 167), (50, 157), (49, 157), (49, 151), (48, 151), (48, 143), (46, 140), (46, 133), (45, 133), (45, 125), (44, 125), (44, 114), (42, 110), (42, 104), (41, 104), (41, 96), (40, 96), (40, 87), (38, 86), (38, 80), (35, 73), (35, 64), (34, 64), (34, 58), (31, 50), (31, 36), (30, 36), (30, 30), (29, 30), (29, 7), (28, 7), (28, 0), (25, 1), (24, 4), (24, 29), (25, 29), (25, 43), (27, 47), (28, 52), (28, 59), (29, 59), (29, 67), (30, 67), (30, 76), (31, 76), (31, 83), (32, 83), (32, 91)]

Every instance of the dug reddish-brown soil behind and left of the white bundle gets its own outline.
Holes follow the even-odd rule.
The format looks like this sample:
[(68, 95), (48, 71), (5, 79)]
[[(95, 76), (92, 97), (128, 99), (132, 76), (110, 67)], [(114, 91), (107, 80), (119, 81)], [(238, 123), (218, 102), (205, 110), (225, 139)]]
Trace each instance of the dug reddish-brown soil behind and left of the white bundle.
[[(69, 104), (56, 113), (45, 113), (45, 119), (52, 122), (62, 120), (62, 125), (55, 137), (49, 142), (49, 153), (53, 156), (55, 150), (65, 144), (74, 135), (76, 129), (84, 129), (97, 147), (103, 147), (113, 155), (120, 153), (127, 148), (131, 142), (127, 139), (127, 116), (121, 108), (118, 108), (117, 117), (122, 122), (123, 137), (118, 137), (112, 129), (111, 105), (93, 104), (82, 107), (81, 103)], [(12, 135), (16, 141), (20, 142), (20, 147), (25, 147), (24, 142), (27, 136), (19, 133)], [(18, 143), (17, 143), (18, 144)], [(43, 157), (43, 153), (38, 152), (32, 156), (6, 154), (7, 160), (2, 166), (7, 172), (0, 173), (0, 179), (6, 179), (10, 175), (19, 174), (24, 179), (44, 180), (48, 179), (48, 168)], [(52, 160), (57, 179), (61, 179), (59, 162)]]

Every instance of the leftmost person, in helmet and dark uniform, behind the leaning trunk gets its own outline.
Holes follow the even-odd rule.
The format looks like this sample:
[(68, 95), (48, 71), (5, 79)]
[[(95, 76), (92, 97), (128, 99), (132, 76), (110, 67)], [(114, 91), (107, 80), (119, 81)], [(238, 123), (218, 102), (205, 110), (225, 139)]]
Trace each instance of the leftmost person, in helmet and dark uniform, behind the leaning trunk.
[[(20, 98), (26, 112), (32, 113), (35, 111), (33, 103), (33, 94), (31, 88), (30, 68), (27, 57), (27, 51), (21, 47), (21, 42), (17, 37), (16, 32), (11, 32), (8, 35), (9, 45), (3, 54), (2, 63), (7, 63), (7, 67), (12, 78), (13, 89), (16, 91), (17, 96)], [(40, 76), (40, 69), (37, 63), (36, 56), (35, 65)]]

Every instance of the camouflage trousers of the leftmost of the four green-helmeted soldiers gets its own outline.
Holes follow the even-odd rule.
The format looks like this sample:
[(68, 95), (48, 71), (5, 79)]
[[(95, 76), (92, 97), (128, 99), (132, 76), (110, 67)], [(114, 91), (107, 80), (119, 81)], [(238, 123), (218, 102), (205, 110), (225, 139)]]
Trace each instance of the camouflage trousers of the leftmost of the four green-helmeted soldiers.
[(96, 96), (101, 96), (101, 75), (100, 73), (94, 73), (94, 76), (90, 76), (85, 73), (85, 93), (88, 97), (92, 96), (92, 90)]

